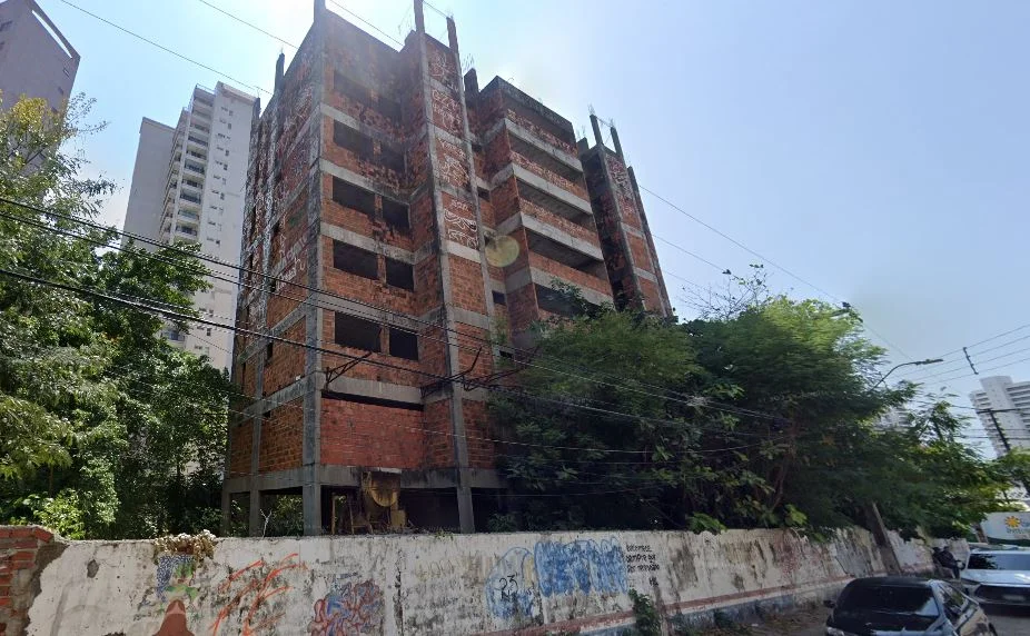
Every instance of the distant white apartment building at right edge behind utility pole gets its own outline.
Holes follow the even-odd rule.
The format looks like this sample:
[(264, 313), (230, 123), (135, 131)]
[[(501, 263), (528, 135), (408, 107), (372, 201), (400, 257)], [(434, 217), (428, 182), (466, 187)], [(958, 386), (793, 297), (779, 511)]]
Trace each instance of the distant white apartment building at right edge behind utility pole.
[[(998, 428), (1012, 448), (1030, 448), (1030, 382), (1013, 382), (1009, 376), (980, 378), (982, 390), (969, 394), (994, 451), (1006, 454)], [(993, 418), (991, 416), (993, 415)], [(994, 420), (998, 426), (994, 426)]]

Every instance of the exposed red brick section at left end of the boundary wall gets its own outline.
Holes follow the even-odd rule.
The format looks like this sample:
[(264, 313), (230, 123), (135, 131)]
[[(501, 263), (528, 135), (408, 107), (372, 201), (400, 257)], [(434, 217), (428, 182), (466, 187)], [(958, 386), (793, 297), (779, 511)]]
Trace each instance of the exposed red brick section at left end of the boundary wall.
[(63, 549), (43, 527), (0, 526), (0, 636), (24, 634), (36, 598), (33, 579)]

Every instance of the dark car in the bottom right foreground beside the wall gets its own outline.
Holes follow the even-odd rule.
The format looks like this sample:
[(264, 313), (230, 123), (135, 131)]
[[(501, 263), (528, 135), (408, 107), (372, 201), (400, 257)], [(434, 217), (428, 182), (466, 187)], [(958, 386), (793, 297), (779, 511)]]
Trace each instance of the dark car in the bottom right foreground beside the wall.
[(826, 606), (826, 636), (997, 635), (980, 604), (943, 580), (858, 578)]

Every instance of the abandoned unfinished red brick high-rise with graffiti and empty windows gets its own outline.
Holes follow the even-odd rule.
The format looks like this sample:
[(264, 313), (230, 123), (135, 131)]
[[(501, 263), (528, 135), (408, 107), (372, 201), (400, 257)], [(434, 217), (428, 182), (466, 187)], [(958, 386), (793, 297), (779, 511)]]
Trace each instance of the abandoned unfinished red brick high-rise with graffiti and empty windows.
[(306, 534), (484, 528), (504, 484), (482, 380), (521, 355), (499, 342), (574, 312), (564, 286), (671, 312), (620, 145), (481, 89), (420, 0), (415, 24), (397, 51), (316, 0), (254, 122), (237, 324), (260, 335), (237, 337), (222, 500), (251, 533), (283, 496)]

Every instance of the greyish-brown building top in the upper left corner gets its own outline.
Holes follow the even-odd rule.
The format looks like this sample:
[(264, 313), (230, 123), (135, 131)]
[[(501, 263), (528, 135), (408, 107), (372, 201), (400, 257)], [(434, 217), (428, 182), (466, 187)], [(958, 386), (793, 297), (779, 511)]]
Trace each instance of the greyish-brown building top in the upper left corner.
[(0, 91), (10, 107), (22, 95), (61, 108), (79, 70), (79, 53), (34, 0), (0, 2)]

